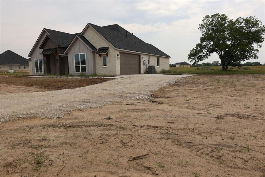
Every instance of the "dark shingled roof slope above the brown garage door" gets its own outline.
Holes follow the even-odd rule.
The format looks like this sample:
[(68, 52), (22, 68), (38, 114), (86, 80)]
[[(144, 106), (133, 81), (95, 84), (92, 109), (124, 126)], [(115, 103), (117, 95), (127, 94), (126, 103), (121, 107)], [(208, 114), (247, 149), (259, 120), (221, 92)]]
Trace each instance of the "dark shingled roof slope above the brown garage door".
[(104, 27), (100, 27), (91, 23), (89, 24), (107, 41), (109, 41), (109, 43), (111, 43), (118, 49), (170, 57), (155, 46), (142, 41), (130, 32), (127, 32), (126, 38), (126, 30), (118, 24), (108, 25)]

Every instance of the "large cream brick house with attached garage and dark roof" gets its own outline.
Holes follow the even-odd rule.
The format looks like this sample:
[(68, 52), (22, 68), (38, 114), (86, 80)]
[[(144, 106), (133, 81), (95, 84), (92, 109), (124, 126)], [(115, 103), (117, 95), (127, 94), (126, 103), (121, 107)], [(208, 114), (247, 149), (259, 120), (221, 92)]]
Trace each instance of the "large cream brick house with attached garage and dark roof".
[(44, 28), (28, 56), (33, 75), (143, 74), (148, 65), (160, 72), (170, 58), (118, 24), (91, 23), (76, 34)]

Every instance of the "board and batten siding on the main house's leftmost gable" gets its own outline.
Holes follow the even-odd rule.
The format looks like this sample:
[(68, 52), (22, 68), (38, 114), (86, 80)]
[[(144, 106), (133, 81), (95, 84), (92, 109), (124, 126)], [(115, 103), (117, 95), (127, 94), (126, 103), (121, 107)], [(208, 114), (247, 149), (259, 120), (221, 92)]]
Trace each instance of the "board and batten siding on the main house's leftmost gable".
[[(47, 32), (43, 31), (42, 35), (39, 38), (39, 41), (37, 41), (35, 47), (32, 50), (31, 55), (29, 55), (29, 57), (31, 57), (32, 75), (44, 75), (44, 66), (42, 66), (43, 67), (43, 69), (42, 69), (43, 73), (36, 73), (35, 59), (42, 59), (42, 62), (43, 62), (43, 55), (41, 55), (42, 49), (40, 49), (39, 47), (40, 47), (42, 41), (44, 40), (44, 38), (46, 37), (46, 35), (47, 35)], [(43, 65), (43, 63), (42, 63), (42, 65)]]

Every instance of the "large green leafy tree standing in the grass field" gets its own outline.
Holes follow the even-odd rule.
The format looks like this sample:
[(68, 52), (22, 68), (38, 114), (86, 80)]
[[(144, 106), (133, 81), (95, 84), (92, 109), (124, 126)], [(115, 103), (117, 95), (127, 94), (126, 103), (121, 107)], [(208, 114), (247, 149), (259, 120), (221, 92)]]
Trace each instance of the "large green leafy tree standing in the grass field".
[(265, 26), (255, 17), (232, 20), (219, 13), (206, 15), (199, 24), (199, 30), (202, 34), (200, 43), (191, 49), (188, 60), (197, 64), (217, 53), (222, 70), (258, 58), (258, 48), (262, 46), (265, 34)]

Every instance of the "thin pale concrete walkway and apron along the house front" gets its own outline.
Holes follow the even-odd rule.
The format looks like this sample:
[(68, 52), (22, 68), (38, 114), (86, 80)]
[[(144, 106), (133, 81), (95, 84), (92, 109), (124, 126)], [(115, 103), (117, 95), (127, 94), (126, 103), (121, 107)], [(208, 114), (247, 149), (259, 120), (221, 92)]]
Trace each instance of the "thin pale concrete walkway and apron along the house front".
[(32, 78), (124, 78), (124, 77), (131, 77), (131, 76), (141, 76), (141, 77), (177, 77), (183, 78), (188, 76), (194, 76), (195, 74), (132, 74), (132, 75), (121, 75), (121, 76), (28, 76)]

